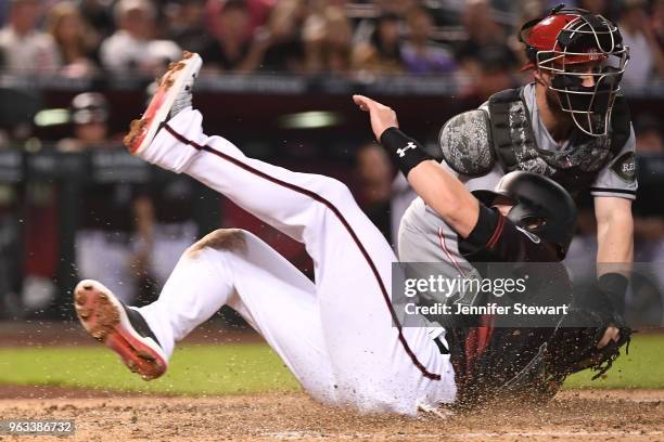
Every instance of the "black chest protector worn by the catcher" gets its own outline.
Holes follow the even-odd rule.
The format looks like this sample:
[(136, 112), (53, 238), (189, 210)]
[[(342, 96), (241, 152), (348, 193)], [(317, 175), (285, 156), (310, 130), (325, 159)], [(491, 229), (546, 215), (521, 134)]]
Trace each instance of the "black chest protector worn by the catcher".
[(537, 147), (523, 88), (508, 89), (488, 101), (491, 144), (505, 173), (524, 170), (550, 177), (575, 194), (587, 188), (597, 173), (617, 155), (630, 134), (629, 109), (617, 96), (605, 136), (582, 136), (570, 148), (552, 152)]

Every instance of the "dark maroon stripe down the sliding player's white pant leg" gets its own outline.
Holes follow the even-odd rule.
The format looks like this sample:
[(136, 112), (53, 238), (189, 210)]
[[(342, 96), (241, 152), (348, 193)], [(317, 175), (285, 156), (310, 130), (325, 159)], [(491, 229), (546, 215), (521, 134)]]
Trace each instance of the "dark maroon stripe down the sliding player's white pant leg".
[[(394, 307), (392, 306), (392, 302), (390, 301), (390, 295), (387, 294), (387, 290), (385, 289), (385, 285), (383, 284), (383, 281), (380, 277), (380, 274), (378, 272), (378, 269), (375, 268), (375, 264), (373, 263), (373, 260), (371, 259), (371, 257), (369, 256), (369, 253), (367, 252), (367, 249), (365, 248), (365, 246), (362, 245), (362, 243), (360, 243), (357, 234), (355, 233), (355, 231), (353, 230), (353, 227), (350, 226), (350, 224), (348, 223), (348, 221), (346, 221), (346, 219), (344, 218), (344, 216), (341, 213), (341, 211), (336, 208), (336, 206), (334, 206), (332, 203), (330, 203), (328, 199), (323, 198), (322, 196), (318, 195), (315, 192), (311, 192), (309, 190), (299, 187), (295, 184), (291, 184), (288, 183), (285, 181), (279, 180), (274, 177), (271, 177), (267, 173), (261, 172), (260, 170), (254, 169), (253, 167), (245, 165), (244, 162), (240, 161), (237, 158), (233, 158), (229, 155), (224, 154), (222, 152), (216, 151), (207, 145), (201, 145), (199, 143), (196, 143), (193, 140), (189, 140), (186, 136), (181, 135), (180, 133), (176, 132), (175, 129), (173, 129), (169, 125), (165, 123), (164, 128), (168, 131), (168, 133), (170, 133), (176, 140), (178, 140), (179, 142), (183, 143), (183, 144), (189, 144), (190, 146), (199, 150), (199, 151), (205, 151), (208, 152), (213, 155), (216, 155), (217, 157), (225, 159), (229, 162), (232, 162), (233, 165), (246, 170), (250, 173), (253, 173), (257, 177), (260, 177), (265, 180), (268, 180), (274, 184), (278, 184), (282, 187), (286, 187), (290, 188), (294, 192), (301, 193), (303, 195), (308, 196), (309, 198), (323, 204), (325, 207), (328, 207), (335, 216), (336, 218), (341, 221), (341, 223), (344, 225), (344, 227), (346, 229), (346, 231), (350, 234), (350, 237), (353, 238), (353, 240), (355, 242), (355, 244), (357, 245), (357, 247), (360, 249), (362, 256), (365, 257), (365, 260), (367, 261), (367, 263), (369, 264), (369, 268), (371, 269), (371, 272), (373, 273), (373, 276), (375, 277), (375, 281), (378, 282), (380, 288), (381, 288), (381, 292), (383, 294), (383, 299), (385, 300), (385, 303), (387, 304), (387, 309), (390, 310), (390, 314), (392, 315), (392, 321), (394, 322), (394, 324), (396, 324), (397, 326), (397, 330), (398, 330), (398, 335), (399, 335), (399, 341), (401, 342), (401, 346), (404, 346), (404, 350), (406, 350), (406, 353), (408, 353), (408, 355), (410, 356), (410, 360), (412, 361), (412, 363), (418, 367), (418, 369), (420, 372), (422, 372), (422, 375), (429, 379), (433, 379), (433, 380), (440, 380), (440, 375), (436, 375), (433, 373), (430, 373), (426, 367), (424, 367), (424, 365), (422, 365), (422, 363), (418, 360), (418, 356), (413, 353), (413, 351), (410, 349), (410, 347), (408, 346), (408, 342), (406, 341), (406, 337), (404, 336), (404, 330), (401, 328), (401, 325), (399, 324), (398, 317), (396, 315), (396, 312), (394, 311)], [(380, 337), (376, 337), (376, 339), (380, 339)]]

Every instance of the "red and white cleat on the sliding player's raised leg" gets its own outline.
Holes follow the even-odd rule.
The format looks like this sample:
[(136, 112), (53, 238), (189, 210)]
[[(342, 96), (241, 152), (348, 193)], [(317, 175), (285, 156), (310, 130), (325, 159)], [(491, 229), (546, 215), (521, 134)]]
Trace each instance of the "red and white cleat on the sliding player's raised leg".
[(184, 52), (182, 60), (171, 63), (159, 78), (157, 89), (140, 120), (131, 121), (125, 146), (133, 155), (140, 154), (158, 132), (164, 121), (191, 106), (191, 90), (203, 60), (193, 52)]

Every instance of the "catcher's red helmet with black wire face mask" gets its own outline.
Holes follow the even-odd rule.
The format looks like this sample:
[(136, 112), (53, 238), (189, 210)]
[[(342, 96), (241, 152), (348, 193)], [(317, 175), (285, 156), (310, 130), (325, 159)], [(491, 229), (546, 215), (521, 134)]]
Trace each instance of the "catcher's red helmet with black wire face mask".
[(522, 34), (532, 58), (525, 68), (551, 75), (548, 88), (558, 94), (561, 109), (578, 129), (591, 136), (608, 134), (629, 60), (618, 28), (602, 15), (566, 9), (553, 10), (531, 27), (527, 38)]

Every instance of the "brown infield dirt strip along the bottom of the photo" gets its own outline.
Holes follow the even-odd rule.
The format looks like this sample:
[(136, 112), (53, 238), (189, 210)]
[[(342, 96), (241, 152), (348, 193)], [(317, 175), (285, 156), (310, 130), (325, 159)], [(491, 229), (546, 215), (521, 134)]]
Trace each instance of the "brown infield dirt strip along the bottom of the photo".
[[(59, 441), (664, 441), (660, 390), (565, 391), (541, 407), (417, 418), (360, 416), (321, 406), (304, 394), (94, 396), (97, 392), (18, 387), (2, 387), (0, 393), (14, 398), (0, 400), (3, 419), (75, 419), (76, 435), (51, 438)], [(30, 396), (38, 399), (25, 399)]]

